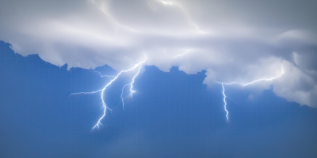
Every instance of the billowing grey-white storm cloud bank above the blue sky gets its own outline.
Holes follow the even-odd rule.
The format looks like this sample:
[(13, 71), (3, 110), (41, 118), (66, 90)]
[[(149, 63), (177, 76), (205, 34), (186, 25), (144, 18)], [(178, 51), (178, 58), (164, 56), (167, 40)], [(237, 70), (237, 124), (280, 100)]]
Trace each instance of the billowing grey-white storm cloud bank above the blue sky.
[(11, 0), (0, 5), (0, 40), (55, 65), (207, 70), (206, 84), (251, 82), (317, 107), (314, 1)]

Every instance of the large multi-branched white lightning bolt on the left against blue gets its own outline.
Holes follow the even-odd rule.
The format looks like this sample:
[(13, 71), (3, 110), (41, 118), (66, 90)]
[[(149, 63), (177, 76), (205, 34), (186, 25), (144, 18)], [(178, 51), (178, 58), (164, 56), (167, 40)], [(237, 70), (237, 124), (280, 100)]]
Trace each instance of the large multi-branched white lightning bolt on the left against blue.
[(133, 83), (135, 82), (135, 78), (139, 75), (140, 70), (141, 70), (141, 68), (142, 68), (142, 64), (143, 64), (145, 61), (146, 61), (146, 59), (145, 59), (144, 61), (142, 61), (142, 62), (136, 64), (136, 65), (135, 65), (134, 67), (132, 67), (131, 69), (120, 71), (116, 76), (103, 76), (103, 75), (101, 75), (100, 72), (93, 70), (94, 72), (99, 73), (99, 74), (100, 74), (100, 77), (113, 77), (113, 79), (110, 80), (102, 89), (99, 89), (99, 90), (96, 90), (96, 91), (92, 91), (92, 92), (71, 93), (71, 94), (69, 95), (69, 96), (71, 96), (71, 95), (76, 95), (76, 94), (92, 94), (92, 93), (97, 93), (97, 92), (100, 92), (100, 91), (101, 91), (101, 96), (100, 96), (100, 98), (101, 98), (101, 100), (102, 100), (103, 114), (102, 114), (102, 116), (98, 119), (98, 121), (97, 121), (97, 123), (95, 124), (95, 126), (93, 127), (93, 129), (99, 128), (100, 125), (102, 126), (101, 121), (102, 121), (102, 119), (106, 116), (106, 111), (107, 111), (107, 110), (112, 111), (109, 107), (107, 107), (107, 104), (106, 104), (105, 99), (104, 99), (104, 92), (105, 92), (105, 90), (107, 89), (107, 87), (108, 87), (109, 85), (111, 85), (112, 82), (114, 82), (118, 77), (120, 77), (120, 75), (121, 75), (122, 73), (129, 72), (129, 71), (132, 71), (132, 70), (138, 68), (138, 71), (137, 71), (137, 73), (133, 76), (131, 83), (124, 85), (123, 88), (122, 88), (121, 98), (122, 98), (123, 108), (124, 108), (124, 106), (125, 106), (124, 97), (123, 97), (124, 89), (126, 88), (126, 86), (130, 85), (130, 92), (131, 92), (130, 94), (132, 95), (134, 92), (136, 92), (135, 90), (133, 90)]

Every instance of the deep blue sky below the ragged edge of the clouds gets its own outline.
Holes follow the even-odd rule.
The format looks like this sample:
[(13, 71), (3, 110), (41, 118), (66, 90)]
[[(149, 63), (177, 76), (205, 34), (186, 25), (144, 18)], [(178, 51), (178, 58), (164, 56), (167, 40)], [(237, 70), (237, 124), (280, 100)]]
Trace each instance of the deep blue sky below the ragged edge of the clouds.
[[(37, 55), (14, 54), (1, 42), (2, 157), (314, 157), (316, 109), (276, 96), (227, 86), (226, 122), (220, 84), (203, 84), (205, 71), (187, 75), (145, 66), (137, 92), (110, 99), (100, 129), (95, 90), (105, 79), (91, 70), (57, 67)], [(115, 73), (111, 68), (99, 68)], [(121, 87), (113, 87), (121, 89)], [(254, 100), (248, 100), (250, 94)], [(113, 95), (113, 97), (115, 97)]]

